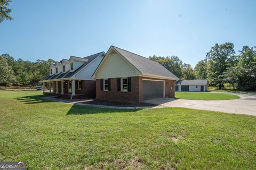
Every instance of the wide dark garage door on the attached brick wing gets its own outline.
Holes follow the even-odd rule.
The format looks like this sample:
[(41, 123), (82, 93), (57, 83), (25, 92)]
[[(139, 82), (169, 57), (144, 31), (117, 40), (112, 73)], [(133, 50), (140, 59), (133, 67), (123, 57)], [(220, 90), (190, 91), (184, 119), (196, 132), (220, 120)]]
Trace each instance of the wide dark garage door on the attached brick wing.
[(142, 80), (142, 99), (154, 99), (164, 96), (164, 82)]

